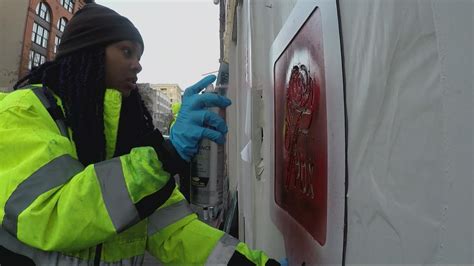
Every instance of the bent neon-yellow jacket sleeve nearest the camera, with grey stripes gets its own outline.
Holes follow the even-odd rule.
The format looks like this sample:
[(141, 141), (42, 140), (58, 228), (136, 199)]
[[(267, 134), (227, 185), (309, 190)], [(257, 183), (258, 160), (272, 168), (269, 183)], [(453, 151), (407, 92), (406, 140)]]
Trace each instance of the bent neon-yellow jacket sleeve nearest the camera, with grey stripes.
[(0, 107), (0, 221), (23, 243), (46, 251), (94, 246), (171, 195), (174, 180), (153, 148), (83, 166), (46, 110), (18, 102)]

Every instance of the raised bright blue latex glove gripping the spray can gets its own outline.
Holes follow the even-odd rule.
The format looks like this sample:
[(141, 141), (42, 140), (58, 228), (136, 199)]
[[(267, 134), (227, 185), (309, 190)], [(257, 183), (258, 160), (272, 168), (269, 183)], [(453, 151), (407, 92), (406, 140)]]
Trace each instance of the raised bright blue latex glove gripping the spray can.
[(227, 125), (224, 119), (207, 110), (207, 107), (225, 108), (231, 101), (214, 93), (199, 94), (214, 80), (216, 76), (207, 76), (184, 91), (181, 109), (171, 128), (171, 143), (181, 158), (188, 162), (197, 153), (202, 138), (208, 138), (218, 144), (225, 142)]

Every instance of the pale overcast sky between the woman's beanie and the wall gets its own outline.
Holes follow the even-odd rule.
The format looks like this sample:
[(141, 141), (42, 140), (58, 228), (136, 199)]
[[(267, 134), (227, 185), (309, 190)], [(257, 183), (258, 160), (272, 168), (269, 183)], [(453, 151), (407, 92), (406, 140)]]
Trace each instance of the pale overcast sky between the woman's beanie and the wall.
[(140, 83), (181, 89), (219, 68), (219, 5), (213, 0), (96, 0), (130, 19), (145, 43)]

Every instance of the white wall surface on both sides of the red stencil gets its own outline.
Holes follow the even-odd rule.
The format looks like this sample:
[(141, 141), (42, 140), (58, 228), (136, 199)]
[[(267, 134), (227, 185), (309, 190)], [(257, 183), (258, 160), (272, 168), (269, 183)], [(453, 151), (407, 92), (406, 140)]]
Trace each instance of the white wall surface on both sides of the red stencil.
[[(251, 132), (272, 123), (265, 100), (270, 46), (295, 3), (243, 1), (238, 7), (231, 53), (235, 109), (229, 112), (235, 112), (229, 124), (230, 136), (239, 135), (231, 140), (237, 154), (250, 139), (252, 149), (260, 150), (257, 135), (243, 135), (246, 88), (254, 91), (251, 96), (261, 90), (265, 103), (251, 101)], [(340, 0), (349, 127), (348, 264), (474, 263), (473, 6), (472, 0)], [(243, 20), (247, 13), (251, 25)], [(250, 43), (243, 27), (251, 28)], [(244, 83), (247, 49), (251, 84)], [(265, 147), (263, 158), (273, 158), (272, 152)], [(284, 257), (283, 237), (268, 208), (272, 176), (264, 165), (257, 178), (255, 157), (250, 164), (230, 161), (240, 200), (250, 202), (240, 210), (245, 240)]]

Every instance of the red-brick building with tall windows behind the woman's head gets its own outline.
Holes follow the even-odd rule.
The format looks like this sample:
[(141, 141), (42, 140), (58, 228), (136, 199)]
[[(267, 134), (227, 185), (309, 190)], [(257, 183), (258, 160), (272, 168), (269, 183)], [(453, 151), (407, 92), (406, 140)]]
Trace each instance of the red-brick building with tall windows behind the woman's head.
[(0, 1), (0, 90), (53, 60), (64, 27), (88, 0)]

